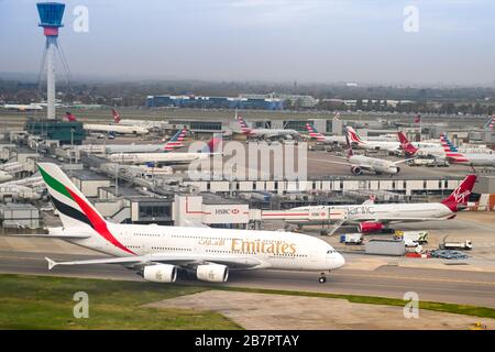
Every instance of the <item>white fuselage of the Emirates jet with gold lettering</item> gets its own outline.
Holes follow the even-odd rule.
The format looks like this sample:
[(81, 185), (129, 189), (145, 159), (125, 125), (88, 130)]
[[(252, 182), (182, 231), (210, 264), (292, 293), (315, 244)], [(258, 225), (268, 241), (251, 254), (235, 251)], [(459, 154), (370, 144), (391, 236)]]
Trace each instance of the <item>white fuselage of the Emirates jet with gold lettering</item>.
[[(130, 252), (122, 251), (102, 237), (70, 241), (113, 256), (191, 253), (217, 260), (235, 256), (257, 260), (260, 268), (294, 271), (330, 271), (344, 264), (342, 255), (327, 242), (293, 232), (139, 224), (109, 224), (108, 230)], [(64, 230), (57, 228), (52, 231), (61, 234)], [(90, 233), (94, 230), (88, 227), (84, 231)], [(81, 229), (78, 228), (77, 232), (81, 233)]]

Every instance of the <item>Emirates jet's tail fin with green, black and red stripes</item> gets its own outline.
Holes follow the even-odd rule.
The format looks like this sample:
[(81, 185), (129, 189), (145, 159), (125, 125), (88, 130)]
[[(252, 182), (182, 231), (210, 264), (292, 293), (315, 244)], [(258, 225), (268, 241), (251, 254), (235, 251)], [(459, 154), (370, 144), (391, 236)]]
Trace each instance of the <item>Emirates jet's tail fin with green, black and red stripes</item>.
[[(120, 243), (108, 229), (108, 223), (89, 200), (70, 182), (67, 175), (53, 163), (40, 163), (40, 173), (50, 196), (58, 210), (62, 223), (68, 232), (91, 233), (100, 237), (127, 254), (135, 254)], [(91, 231), (92, 230), (92, 231)]]

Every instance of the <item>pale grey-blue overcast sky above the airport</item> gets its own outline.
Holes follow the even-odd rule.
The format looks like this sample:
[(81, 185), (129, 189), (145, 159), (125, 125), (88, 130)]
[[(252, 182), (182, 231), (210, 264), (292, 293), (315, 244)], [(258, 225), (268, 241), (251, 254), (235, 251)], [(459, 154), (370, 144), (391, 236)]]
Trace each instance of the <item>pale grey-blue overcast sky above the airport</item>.
[[(64, 1), (63, 1), (64, 2)], [(36, 1), (0, 0), (0, 72), (37, 73)], [(59, 41), (75, 76), (495, 84), (492, 0), (77, 0)], [(76, 6), (89, 32), (73, 29)], [(404, 9), (419, 31), (404, 31)]]

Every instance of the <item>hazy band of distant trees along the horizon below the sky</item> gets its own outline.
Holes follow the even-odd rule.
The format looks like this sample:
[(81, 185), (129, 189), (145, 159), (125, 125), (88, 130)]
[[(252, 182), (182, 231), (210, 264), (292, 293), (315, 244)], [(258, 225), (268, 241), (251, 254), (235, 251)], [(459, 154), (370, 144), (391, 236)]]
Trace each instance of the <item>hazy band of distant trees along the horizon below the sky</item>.
[[(495, 88), (491, 87), (349, 87), (344, 84), (270, 84), (250, 81), (78, 81), (57, 85), (57, 99), (62, 102), (96, 103), (123, 107), (142, 107), (150, 95), (186, 95), (209, 97), (238, 97), (242, 94), (307, 95), (320, 99), (312, 109), (362, 110), (398, 112), (437, 112), (492, 114), (495, 112)], [(29, 103), (45, 99), (45, 85), (35, 81), (0, 79), (0, 100)], [(326, 99), (334, 99), (327, 101)], [(338, 99), (356, 100), (354, 106)], [(409, 100), (408, 103), (387, 105), (386, 100)], [(336, 102), (337, 101), (337, 102)], [(365, 102), (363, 102), (365, 101)], [(198, 108), (201, 108), (200, 106)], [(287, 100), (287, 110), (307, 110), (300, 99)]]

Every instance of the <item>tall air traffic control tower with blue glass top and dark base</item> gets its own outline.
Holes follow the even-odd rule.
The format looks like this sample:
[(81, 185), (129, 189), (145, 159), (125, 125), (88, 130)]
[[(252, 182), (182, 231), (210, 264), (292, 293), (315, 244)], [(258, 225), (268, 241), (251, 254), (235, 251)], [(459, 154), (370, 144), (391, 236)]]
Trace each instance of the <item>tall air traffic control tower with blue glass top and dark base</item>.
[[(46, 140), (58, 140), (61, 144), (80, 144), (85, 139), (81, 122), (57, 121), (55, 111), (55, 54), (58, 52), (58, 29), (64, 26), (65, 4), (59, 2), (36, 3), (40, 14), (40, 26), (46, 37), (44, 63), (46, 63), (46, 117), (41, 120), (31, 119), (26, 123), (26, 131)], [(62, 55), (61, 55), (62, 56)]]

